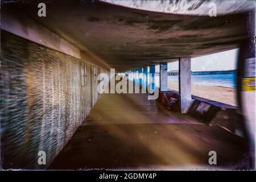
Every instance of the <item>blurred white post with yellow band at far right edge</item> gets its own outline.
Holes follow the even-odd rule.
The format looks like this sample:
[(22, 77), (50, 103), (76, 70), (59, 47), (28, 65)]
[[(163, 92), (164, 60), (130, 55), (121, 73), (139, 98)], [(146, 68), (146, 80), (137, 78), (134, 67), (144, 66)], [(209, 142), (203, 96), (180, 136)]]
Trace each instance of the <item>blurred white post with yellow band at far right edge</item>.
[(245, 14), (247, 38), (240, 44), (237, 69), (238, 109), (243, 115), (243, 127), (247, 139), (246, 153), (250, 156), (250, 168), (255, 169), (255, 12)]

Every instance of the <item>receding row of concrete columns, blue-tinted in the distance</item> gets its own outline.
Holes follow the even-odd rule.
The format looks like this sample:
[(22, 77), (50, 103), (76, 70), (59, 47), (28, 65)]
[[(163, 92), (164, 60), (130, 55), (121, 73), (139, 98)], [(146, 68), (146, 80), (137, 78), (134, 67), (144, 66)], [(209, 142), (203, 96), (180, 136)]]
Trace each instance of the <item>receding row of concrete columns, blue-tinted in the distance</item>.
[[(167, 63), (160, 63), (160, 92), (168, 91), (168, 70)], [(155, 89), (155, 65), (150, 65), (150, 82), (148, 83), (148, 67), (135, 68), (129, 72), (129, 80), (133, 80), (139, 86), (151, 84), (150, 89)], [(142, 76), (143, 75), (143, 76)], [(150, 92), (152, 91), (150, 90)], [(179, 94), (181, 113), (187, 113), (193, 102), (191, 97), (191, 57), (179, 59)]]

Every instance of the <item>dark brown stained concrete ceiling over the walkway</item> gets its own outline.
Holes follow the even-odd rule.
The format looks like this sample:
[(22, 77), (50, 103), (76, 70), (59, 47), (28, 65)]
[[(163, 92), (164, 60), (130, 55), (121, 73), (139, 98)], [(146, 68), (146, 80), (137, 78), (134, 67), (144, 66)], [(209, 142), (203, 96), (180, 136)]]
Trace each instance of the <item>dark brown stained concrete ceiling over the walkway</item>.
[(95, 64), (104, 62), (120, 71), (237, 48), (246, 38), (244, 14), (177, 15), (98, 1), (47, 1), (46, 6), (44, 18), (38, 17), (34, 2), (1, 8), (22, 10), (80, 48), (82, 55), (96, 55), (101, 61)]

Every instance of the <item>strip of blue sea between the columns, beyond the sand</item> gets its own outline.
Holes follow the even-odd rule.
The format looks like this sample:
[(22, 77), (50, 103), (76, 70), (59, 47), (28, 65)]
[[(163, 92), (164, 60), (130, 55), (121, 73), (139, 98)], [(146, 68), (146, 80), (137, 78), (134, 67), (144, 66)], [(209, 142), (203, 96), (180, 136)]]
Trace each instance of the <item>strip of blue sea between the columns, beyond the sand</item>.
[[(159, 73), (156, 73), (155, 79), (156, 86), (159, 86)], [(168, 80), (179, 81), (179, 76), (168, 75)], [(236, 88), (236, 71), (192, 72), (191, 82), (195, 85)]]

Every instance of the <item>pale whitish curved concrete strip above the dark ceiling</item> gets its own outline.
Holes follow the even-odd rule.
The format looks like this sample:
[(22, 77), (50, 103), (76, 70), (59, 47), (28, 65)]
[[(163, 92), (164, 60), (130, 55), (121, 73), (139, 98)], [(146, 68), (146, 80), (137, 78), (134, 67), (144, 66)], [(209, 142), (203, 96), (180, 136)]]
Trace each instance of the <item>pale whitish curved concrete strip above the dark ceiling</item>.
[(208, 16), (209, 10), (216, 6), (217, 15), (243, 13), (253, 10), (253, 0), (99, 0), (113, 5), (130, 7), (138, 10), (178, 15)]

